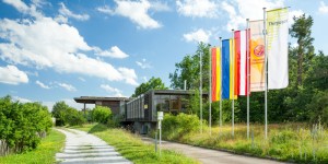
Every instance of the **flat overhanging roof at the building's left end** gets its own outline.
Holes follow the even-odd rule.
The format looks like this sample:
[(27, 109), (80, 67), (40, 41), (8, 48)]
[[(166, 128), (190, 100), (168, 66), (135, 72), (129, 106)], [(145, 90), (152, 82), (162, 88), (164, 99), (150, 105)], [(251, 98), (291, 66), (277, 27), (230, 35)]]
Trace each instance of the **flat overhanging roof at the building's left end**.
[(95, 104), (96, 102), (120, 102), (120, 101), (129, 101), (128, 97), (97, 97), (97, 96), (81, 96), (74, 97), (77, 103), (85, 103), (85, 104)]

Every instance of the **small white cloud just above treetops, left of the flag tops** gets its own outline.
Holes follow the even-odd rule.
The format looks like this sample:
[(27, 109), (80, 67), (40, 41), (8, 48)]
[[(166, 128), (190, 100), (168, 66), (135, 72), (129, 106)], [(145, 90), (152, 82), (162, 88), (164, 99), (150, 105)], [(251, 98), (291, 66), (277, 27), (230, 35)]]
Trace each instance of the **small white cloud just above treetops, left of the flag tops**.
[(184, 38), (186, 42), (203, 42), (203, 43), (209, 43), (211, 36), (210, 31), (204, 31), (202, 28), (199, 28), (197, 31), (184, 34)]

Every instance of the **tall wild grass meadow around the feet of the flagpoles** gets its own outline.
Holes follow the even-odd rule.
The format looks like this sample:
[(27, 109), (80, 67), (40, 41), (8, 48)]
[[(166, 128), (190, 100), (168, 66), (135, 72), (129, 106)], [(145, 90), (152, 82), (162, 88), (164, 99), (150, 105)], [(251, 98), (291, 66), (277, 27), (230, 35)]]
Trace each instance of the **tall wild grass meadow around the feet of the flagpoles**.
[[(269, 125), (268, 139), (265, 139), (265, 127), (251, 125), (250, 138), (247, 140), (246, 125), (235, 125), (232, 138), (231, 125), (213, 127), (212, 134), (204, 127), (188, 133), (169, 133), (163, 138), (181, 143), (204, 148), (230, 150), (235, 153), (247, 153), (260, 157), (273, 157), (281, 161), (300, 163), (328, 163), (328, 130), (320, 126), (305, 124)], [(173, 131), (179, 131), (174, 129)], [(254, 136), (254, 137), (251, 137)]]

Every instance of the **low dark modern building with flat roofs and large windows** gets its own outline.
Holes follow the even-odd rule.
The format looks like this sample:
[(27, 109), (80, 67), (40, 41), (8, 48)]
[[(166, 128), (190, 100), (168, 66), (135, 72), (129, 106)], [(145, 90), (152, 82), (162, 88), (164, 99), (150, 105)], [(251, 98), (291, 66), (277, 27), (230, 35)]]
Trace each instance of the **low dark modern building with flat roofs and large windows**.
[[(108, 106), (114, 115), (120, 115), (121, 124), (132, 131), (148, 133), (157, 124), (157, 112), (178, 114), (189, 113), (189, 99), (195, 95), (190, 90), (150, 90), (133, 98), (128, 97), (75, 97), (77, 103)], [(203, 98), (208, 93), (202, 94)]]

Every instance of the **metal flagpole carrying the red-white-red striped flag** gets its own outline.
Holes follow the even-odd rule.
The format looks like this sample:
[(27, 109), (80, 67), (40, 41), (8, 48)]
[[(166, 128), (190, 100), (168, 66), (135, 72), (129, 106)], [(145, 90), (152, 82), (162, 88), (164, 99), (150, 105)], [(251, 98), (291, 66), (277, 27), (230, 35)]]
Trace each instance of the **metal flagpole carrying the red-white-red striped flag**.
[(233, 86), (232, 86), (232, 137), (234, 138), (235, 136), (235, 66), (234, 66), (234, 56), (235, 56), (235, 50), (234, 50), (234, 45), (235, 45), (235, 35), (234, 35), (234, 30), (232, 30), (232, 56), (231, 56), (231, 59), (232, 59), (232, 65), (233, 65), (233, 69), (232, 69), (232, 83), (233, 83)]

